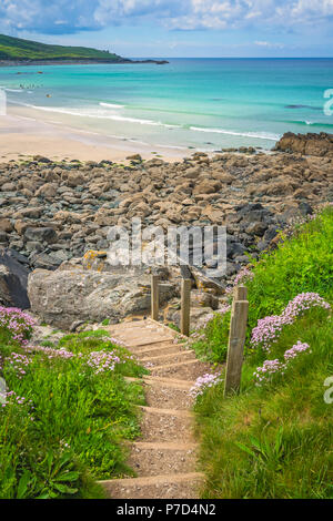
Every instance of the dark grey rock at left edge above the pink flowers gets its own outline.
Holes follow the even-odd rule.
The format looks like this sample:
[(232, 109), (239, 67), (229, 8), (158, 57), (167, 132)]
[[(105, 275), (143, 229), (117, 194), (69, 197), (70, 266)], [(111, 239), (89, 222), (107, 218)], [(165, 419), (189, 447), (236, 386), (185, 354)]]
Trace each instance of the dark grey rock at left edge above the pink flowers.
[(27, 283), (29, 270), (12, 255), (11, 249), (0, 248), (0, 304), (7, 307), (30, 307)]

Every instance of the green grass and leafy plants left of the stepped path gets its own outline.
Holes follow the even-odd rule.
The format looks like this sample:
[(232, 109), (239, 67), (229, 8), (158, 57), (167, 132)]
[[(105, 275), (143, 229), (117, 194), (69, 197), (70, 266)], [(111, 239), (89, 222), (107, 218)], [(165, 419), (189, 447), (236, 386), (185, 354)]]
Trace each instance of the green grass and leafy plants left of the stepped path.
[[(124, 441), (140, 435), (135, 406), (144, 397), (139, 384), (123, 377), (147, 370), (105, 331), (68, 335), (60, 344), (77, 356), (36, 353), (20, 379), (8, 357), (24, 351), (0, 329), (0, 376), (33, 406), (10, 401), (0, 409), (0, 498), (103, 498), (95, 480), (132, 473)], [(97, 374), (85, 358), (99, 350), (115, 351), (124, 362)]]

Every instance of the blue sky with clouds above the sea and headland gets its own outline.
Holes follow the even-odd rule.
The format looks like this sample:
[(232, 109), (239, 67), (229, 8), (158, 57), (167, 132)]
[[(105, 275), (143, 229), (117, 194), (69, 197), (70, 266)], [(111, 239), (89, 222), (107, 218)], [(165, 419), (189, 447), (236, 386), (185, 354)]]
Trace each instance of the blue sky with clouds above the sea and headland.
[(0, 33), (128, 58), (333, 57), (333, 0), (0, 0)]

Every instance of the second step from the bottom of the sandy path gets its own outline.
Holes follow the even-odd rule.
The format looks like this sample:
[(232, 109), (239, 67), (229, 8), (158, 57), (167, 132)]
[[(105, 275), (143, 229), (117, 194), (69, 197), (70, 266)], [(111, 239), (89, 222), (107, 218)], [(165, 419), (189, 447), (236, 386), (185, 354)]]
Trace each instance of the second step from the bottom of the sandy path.
[(160, 476), (194, 472), (195, 443), (135, 442), (131, 447), (128, 464), (138, 476)]

